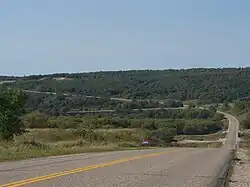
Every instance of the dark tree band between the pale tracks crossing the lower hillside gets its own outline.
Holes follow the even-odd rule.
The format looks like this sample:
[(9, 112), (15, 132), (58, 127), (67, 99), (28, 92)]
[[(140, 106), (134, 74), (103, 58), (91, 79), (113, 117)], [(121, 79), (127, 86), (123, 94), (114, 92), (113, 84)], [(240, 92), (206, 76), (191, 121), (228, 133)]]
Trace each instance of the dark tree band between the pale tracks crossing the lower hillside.
[(181, 101), (172, 99), (164, 102), (152, 100), (121, 102), (110, 98), (88, 98), (63, 94), (26, 93), (26, 95), (27, 112), (40, 111), (52, 116), (66, 115), (70, 111), (76, 113), (76, 111), (93, 110), (130, 111), (132, 109), (183, 107)]

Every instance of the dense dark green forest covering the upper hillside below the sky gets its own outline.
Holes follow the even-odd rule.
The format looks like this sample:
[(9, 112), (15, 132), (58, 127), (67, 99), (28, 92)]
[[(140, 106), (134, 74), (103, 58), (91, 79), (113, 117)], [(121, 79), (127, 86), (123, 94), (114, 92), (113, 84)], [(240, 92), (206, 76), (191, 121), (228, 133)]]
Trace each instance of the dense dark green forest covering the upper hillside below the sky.
[[(3, 80), (8, 80), (6, 77)], [(223, 102), (250, 93), (250, 68), (138, 70), (33, 75), (6, 83), (9, 87), (130, 99), (176, 99)]]

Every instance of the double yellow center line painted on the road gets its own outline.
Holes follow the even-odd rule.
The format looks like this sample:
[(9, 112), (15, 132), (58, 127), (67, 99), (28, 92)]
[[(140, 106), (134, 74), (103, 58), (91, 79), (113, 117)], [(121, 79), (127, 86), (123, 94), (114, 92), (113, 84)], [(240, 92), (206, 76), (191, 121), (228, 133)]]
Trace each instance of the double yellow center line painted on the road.
[(134, 157), (130, 157), (130, 158), (122, 158), (122, 159), (119, 159), (119, 160), (113, 160), (113, 161), (104, 162), (104, 163), (101, 163), (101, 164), (89, 165), (89, 166), (84, 166), (82, 168), (75, 168), (75, 169), (68, 170), (68, 171), (61, 171), (61, 172), (52, 173), (52, 174), (49, 174), (49, 175), (38, 176), (38, 177), (29, 178), (29, 179), (25, 179), (25, 180), (21, 180), (21, 181), (11, 182), (11, 183), (8, 183), (8, 184), (0, 185), (0, 187), (24, 186), (24, 185), (27, 185), (27, 184), (36, 183), (36, 182), (45, 181), (45, 180), (50, 180), (50, 179), (54, 179), (54, 178), (65, 176), (65, 175), (70, 175), (70, 174), (74, 174), (74, 173), (89, 171), (89, 170), (93, 170), (93, 169), (97, 169), (97, 168), (103, 168), (103, 167), (106, 167), (106, 166), (121, 164), (121, 163), (124, 163), (124, 162), (129, 162), (129, 161), (138, 160), (138, 159), (142, 159), (142, 158), (150, 158), (150, 157), (160, 156), (160, 155), (164, 155), (164, 154), (168, 154), (168, 153), (176, 152), (176, 151), (177, 150), (165, 151), (165, 152), (160, 152), (160, 153), (151, 153), (151, 154), (146, 154), (146, 155), (139, 155), (139, 156), (134, 156)]

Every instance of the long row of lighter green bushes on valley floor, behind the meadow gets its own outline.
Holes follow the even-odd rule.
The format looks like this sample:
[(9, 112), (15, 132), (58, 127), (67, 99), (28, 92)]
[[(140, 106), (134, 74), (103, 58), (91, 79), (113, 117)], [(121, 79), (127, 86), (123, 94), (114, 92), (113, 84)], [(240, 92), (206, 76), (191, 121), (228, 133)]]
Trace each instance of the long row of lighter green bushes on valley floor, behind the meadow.
[[(147, 130), (175, 128), (178, 134), (207, 134), (222, 128), (224, 116), (210, 110), (169, 110), (168, 116), (47, 116), (39, 112), (29, 113), (22, 120), (26, 128), (142, 128)], [(171, 115), (169, 115), (171, 114)]]

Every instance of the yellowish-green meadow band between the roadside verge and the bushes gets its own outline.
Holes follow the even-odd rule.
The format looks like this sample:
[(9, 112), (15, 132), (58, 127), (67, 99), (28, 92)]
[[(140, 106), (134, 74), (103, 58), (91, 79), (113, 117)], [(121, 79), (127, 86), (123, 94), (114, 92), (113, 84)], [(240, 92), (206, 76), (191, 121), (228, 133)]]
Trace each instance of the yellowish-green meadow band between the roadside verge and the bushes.
[[(89, 132), (90, 131), (90, 132)], [(27, 129), (22, 136), (15, 137), (15, 142), (35, 140), (43, 143), (74, 141), (93, 138), (93, 141), (119, 142), (117, 140), (140, 140), (144, 131), (139, 129)], [(92, 136), (92, 137), (90, 137)], [(98, 139), (99, 138), (99, 139)]]

